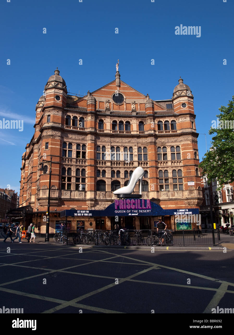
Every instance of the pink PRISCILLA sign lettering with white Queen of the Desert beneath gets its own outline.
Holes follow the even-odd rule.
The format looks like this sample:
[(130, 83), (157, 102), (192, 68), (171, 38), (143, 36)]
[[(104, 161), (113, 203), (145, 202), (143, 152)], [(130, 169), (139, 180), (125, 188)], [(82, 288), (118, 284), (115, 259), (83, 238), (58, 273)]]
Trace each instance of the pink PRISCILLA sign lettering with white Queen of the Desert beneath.
[(115, 213), (129, 213), (129, 215), (138, 215), (138, 213), (150, 213), (151, 203), (147, 199), (124, 199), (114, 200)]

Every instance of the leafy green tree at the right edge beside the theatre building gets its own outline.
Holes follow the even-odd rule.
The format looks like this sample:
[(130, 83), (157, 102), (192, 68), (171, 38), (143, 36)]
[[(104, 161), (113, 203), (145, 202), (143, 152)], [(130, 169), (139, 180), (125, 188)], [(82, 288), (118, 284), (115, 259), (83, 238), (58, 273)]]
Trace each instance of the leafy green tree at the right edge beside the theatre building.
[(234, 181), (234, 95), (228, 106), (221, 106), (219, 111), (221, 113), (216, 115), (219, 124), (212, 121), (209, 130), (210, 135), (216, 135), (199, 166), (207, 174), (208, 183), (216, 178), (220, 184), (218, 189), (221, 189), (223, 184)]

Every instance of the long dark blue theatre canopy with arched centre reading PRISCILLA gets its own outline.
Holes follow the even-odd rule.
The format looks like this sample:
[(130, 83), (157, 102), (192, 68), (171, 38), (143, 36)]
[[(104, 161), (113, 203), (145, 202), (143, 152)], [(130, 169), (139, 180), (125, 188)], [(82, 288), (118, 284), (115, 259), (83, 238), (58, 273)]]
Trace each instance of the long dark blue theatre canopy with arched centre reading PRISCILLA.
[(199, 214), (198, 208), (163, 209), (149, 199), (123, 199), (114, 200), (103, 210), (76, 210), (65, 209), (60, 217), (91, 217), (91, 216), (164, 216)]

